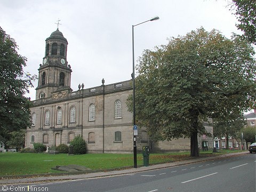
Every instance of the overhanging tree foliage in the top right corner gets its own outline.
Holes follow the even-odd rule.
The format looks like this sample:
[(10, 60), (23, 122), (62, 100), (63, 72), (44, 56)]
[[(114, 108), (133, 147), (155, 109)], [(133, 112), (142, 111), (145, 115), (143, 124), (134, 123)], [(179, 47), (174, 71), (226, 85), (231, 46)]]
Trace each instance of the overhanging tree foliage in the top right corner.
[(244, 32), (244, 36), (251, 43), (256, 44), (256, 2), (255, 0), (232, 0), (231, 9), (235, 10), (235, 15), (239, 23), (238, 29)]

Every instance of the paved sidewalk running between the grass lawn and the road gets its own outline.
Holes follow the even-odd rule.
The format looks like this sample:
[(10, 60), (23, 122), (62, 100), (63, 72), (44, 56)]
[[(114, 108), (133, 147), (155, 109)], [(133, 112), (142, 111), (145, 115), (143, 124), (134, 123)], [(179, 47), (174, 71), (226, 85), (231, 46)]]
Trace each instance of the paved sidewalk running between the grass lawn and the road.
[(53, 182), (53, 181), (60, 181), (60, 180), (75, 180), (75, 179), (90, 179), (90, 178), (98, 178), (98, 177), (107, 177), (111, 175), (122, 175), (122, 174), (132, 174), (136, 172), (143, 172), (155, 169), (162, 169), (167, 167), (173, 167), (178, 165), (186, 165), (191, 163), (198, 163), (203, 161), (214, 160), (218, 158), (225, 158), (229, 156), (237, 156), (237, 155), (244, 155), (249, 154), (249, 151), (243, 151), (240, 153), (232, 153), (232, 154), (225, 154), (215, 157), (203, 157), (203, 158), (195, 158), (195, 159), (188, 159), (185, 161), (177, 161), (172, 163), (163, 163), (157, 165), (150, 165), (150, 166), (142, 166), (138, 168), (132, 169), (125, 169), (125, 170), (115, 170), (115, 171), (103, 171), (102, 172), (93, 172), (93, 173), (86, 173), (86, 174), (72, 174), (72, 175), (51, 175), (51, 176), (40, 176), (40, 177), (30, 177), (30, 178), (15, 178), (15, 179), (5, 179), (0, 178), (0, 185), (6, 184), (20, 184), (20, 183), (37, 183), (37, 182)]

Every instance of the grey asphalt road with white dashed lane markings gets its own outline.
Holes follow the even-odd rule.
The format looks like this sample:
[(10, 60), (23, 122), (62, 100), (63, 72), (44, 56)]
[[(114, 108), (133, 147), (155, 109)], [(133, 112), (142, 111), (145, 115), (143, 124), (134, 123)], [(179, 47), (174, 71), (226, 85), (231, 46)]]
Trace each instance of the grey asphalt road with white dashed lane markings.
[(3, 191), (256, 191), (256, 154), (116, 175), (114, 177), (6, 186)]

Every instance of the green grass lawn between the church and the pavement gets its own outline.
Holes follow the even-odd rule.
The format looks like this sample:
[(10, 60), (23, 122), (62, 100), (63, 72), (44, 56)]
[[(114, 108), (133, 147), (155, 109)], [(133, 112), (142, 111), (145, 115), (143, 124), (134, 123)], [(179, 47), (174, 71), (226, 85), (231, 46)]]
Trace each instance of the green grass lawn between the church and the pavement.
[[(200, 156), (219, 155), (230, 153), (211, 154), (211, 151), (202, 151)], [(231, 151), (237, 152), (237, 151)], [(150, 154), (149, 164), (179, 161), (191, 158), (187, 153)], [(60, 173), (51, 167), (56, 165), (83, 165), (92, 170), (110, 169), (116, 167), (133, 166), (133, 154), (33, 154), (33, 153), (0, 153), (0, 176), (25, 175), (39, 173)], [(142, 154), (137, 154), (137, 165), (143, 165)]]

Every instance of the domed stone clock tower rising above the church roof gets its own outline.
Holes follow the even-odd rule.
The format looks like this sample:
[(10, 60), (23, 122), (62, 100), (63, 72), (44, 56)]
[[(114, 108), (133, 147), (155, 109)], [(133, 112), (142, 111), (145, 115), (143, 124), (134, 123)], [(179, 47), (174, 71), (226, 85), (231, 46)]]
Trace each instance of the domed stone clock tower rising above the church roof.
[[(59, 23), (58, 23), (59, 24)], [(45, 56), (38, 69), (36, 99), (62, 97), (70, 88), (71, 68), (67, 62), (67, 39), (59, 27), (45, 40)], [(63, 94), (65, 93), (65, 94)], [(61, 96), (59, 96), (61, 95)]]

